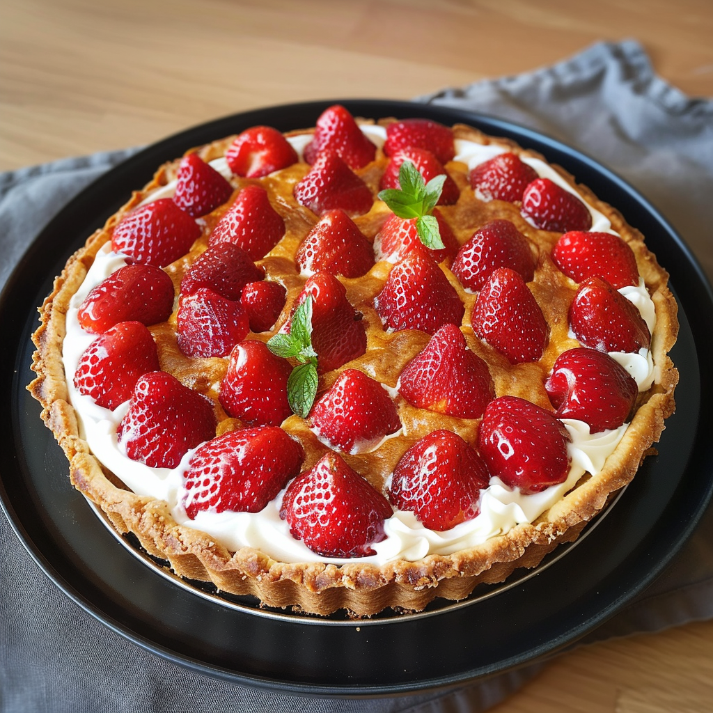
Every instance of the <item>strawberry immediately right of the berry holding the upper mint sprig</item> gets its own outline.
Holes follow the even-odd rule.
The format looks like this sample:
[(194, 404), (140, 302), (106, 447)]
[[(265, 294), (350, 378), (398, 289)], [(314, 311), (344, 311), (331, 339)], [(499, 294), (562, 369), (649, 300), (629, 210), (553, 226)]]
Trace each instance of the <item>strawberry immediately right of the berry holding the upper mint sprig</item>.
[(535, 276), (530, 242), (509, 220), (491, 220), (478, 228), (458, 251), (451, 270), (463, 287), (478, 292), (498, 267), (515, 270), (525, 282)]

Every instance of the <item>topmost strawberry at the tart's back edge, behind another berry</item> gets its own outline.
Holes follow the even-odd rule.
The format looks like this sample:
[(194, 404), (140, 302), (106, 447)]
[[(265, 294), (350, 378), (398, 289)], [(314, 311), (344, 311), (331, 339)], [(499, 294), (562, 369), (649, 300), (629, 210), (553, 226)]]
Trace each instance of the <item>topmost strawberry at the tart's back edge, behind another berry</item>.
[(339, 104), (317, 119), (314, 138), (304, 147), (304, 160), (314, 163), (323, 151), (334, 151), (350, 168), (364, 168), (374, 160), (376, 146), (359, 129), (354, 117)]

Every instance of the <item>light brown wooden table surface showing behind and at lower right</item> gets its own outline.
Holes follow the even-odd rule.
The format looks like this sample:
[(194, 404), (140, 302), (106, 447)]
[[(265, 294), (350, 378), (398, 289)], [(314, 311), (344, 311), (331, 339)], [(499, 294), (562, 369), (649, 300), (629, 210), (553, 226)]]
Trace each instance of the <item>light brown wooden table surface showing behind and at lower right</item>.
[[(408, 99), (627, 37), (713, 96), (710, 0), (4, 0), (0, 170), (279, 103)], [(713, 622), (580, 647), (493, 710), (713, 710)]]

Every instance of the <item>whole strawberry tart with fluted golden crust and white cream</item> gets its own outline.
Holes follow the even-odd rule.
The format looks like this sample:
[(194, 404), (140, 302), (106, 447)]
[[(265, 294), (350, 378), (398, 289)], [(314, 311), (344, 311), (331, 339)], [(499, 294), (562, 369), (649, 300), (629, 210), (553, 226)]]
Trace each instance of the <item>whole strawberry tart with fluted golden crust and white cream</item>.
[(543, 156), (335, 105), (161, 166), (56, 278), (29, 389), (73, 485), (180, 577), (419, 611), (635, 476), (674, 409), (667, 278)]

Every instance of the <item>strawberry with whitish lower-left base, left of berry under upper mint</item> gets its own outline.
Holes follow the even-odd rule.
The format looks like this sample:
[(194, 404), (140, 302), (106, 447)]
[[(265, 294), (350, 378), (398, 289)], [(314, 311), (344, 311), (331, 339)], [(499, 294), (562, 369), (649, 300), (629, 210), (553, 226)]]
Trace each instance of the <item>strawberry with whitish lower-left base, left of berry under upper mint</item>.
[(326, 212), (314, 225), (294, 259), (303, 274), (324, 270), (332, 275), (361, 277), (374, 267), (374, 250), (352, 218), (337, 208)]

